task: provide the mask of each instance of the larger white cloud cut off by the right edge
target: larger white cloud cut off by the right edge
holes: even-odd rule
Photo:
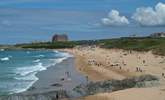
[[[163,26],[165,25],[165,4],[158,3],[155,8],[137,8],[132,18],[142,26]]]

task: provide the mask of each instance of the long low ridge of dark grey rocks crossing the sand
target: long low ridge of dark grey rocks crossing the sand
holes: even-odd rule
[[[158,83],[158,78],[151,75],[133,77],[124,80],[109,80],[104,82],[90,82],[87,85],[81,84],[74,88],[74,91],[82,96],[93,95],[96,93],[113,92],[134,87],[153,86]]]

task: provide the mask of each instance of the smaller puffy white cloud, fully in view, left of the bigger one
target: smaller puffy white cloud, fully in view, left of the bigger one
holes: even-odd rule
[[[112,10],[107,18],[102,19],[102,23],[109,26],[124,26],[128,25],[129,21],[125,16],[120,16],[117,10]]]

